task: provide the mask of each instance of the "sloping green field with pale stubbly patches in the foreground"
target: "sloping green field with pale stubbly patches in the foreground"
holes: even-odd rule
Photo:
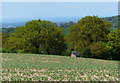
[[[39,54],[2,54],[3,81],[118,81],[118,61]]]

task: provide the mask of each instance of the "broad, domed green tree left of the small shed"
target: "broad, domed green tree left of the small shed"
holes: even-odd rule
[[[61,28],[50,21],[32,20],[10,34],[4,48],[29,53],[61,54],[65,49]]]

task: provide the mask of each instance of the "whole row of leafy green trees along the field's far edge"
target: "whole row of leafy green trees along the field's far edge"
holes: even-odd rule
[[[97,16],[70,24],[65,35],[53,22],[29,21],[7,36],[2,33],[2,52],[69,56],[78,51],[79,57],[120,60],[120,28],[111,30],[112,24]]]

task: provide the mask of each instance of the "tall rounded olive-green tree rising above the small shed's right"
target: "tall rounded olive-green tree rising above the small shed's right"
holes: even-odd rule
[[[94,42],[105,42],[111,26],[111,23],[96,16],[82,18],[70,28],[67,38],[69,49],[73,48],[81,53]]]

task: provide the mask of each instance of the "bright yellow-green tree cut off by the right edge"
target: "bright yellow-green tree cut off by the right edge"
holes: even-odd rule
[[[108,34],[109,58],[120,60],[120,28]]]

